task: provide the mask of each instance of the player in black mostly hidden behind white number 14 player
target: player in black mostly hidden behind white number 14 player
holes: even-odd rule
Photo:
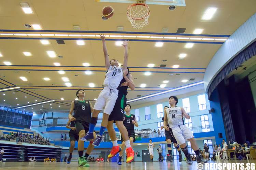
[[[169,108],[169,107],[168,106],[163,107],[164,110],[167,109],[167,108]],[[165,117],[162,117],[163,121],[164,121],[164,118]],[[167,126],[169,126],[169,124],[167,124]],[[161,129],[162,128],[163,128],[163,126],[161,126]],[[179,152],[179,162],[182,162],[182,154],[181,154],[180,146],[177,144],[177,141],[174,138],[174,136],[172,136],[170,130],[169,131],[165,130],[165,141],[167,142],[168,153],[169,153],[169,155],[171,157],[170,162],[172,162],[172,142],[173,142],[174,147]]]

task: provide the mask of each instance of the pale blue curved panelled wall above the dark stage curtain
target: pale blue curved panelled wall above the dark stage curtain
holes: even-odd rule
[[[245,21],[219,48],[204,73],[204,89],[208,88],[219,71],[240,51],[256,39],[256,13]]]

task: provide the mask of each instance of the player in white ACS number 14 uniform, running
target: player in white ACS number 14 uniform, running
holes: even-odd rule
[[[186,113],[184,108],[177,107],[178,98],[176,96],[169,97],[169,104],[171,107],[165,109],[165,118],[163,121],[164,128],[171,132],[171,134],[175,137],[177,143],[180,145],[181,150],[187,158],[187,164],[192,164],[190,154],[188,153],[186,140],[190,141],[191,148],[195,151],[197,157],[196,160],[198,163],[206,163],[207,161],[202,160],[199,148],[197,146],[194,135],[187,128],[186,125],[183,124],[183,117],[186,119],[190,119],[190,116]],[[169,124],[170,128],[167,126]]]

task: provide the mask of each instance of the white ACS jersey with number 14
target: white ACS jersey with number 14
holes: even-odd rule
[[[170,128],[183,124],[181,107],[169,107],[166,109],[166,114]]]

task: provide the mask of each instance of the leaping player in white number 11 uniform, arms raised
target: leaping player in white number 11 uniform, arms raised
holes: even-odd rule
[[[100,95],[94,105],[93,115],[90,121],[90,127],[88,133],[81,138],[81,140],[91,140],[93,139],[93,130],[97,123],[97,118],[100,111],[103,111],[103,117],[100,127],[100,132],[96,137],[96,140],[93,142],[94,146],[99,146],[102,141],[102,135],[108,125],[109,115],[113,111],[114,105],[116,103],[116,99],[118,97],[117,87],[119,86],[121,80],[123,79],[123,73],[127,72],[127,60],[128,60],[128,41],[123,42],[123,46],[125,47],[124,53],[124,63],[123,67],[119,67],[119,63],[117,60],[109,60],[108,50],[106,48],[105,36],[103,34],[100,35],[103,44],[103,52],[105,58],[105,66],[106,66],[106,74],[104,80],[104,88],[100,92]],[[126,74],[127,74],[126,73]],[[130,145],[128,146],[130,147]]]

